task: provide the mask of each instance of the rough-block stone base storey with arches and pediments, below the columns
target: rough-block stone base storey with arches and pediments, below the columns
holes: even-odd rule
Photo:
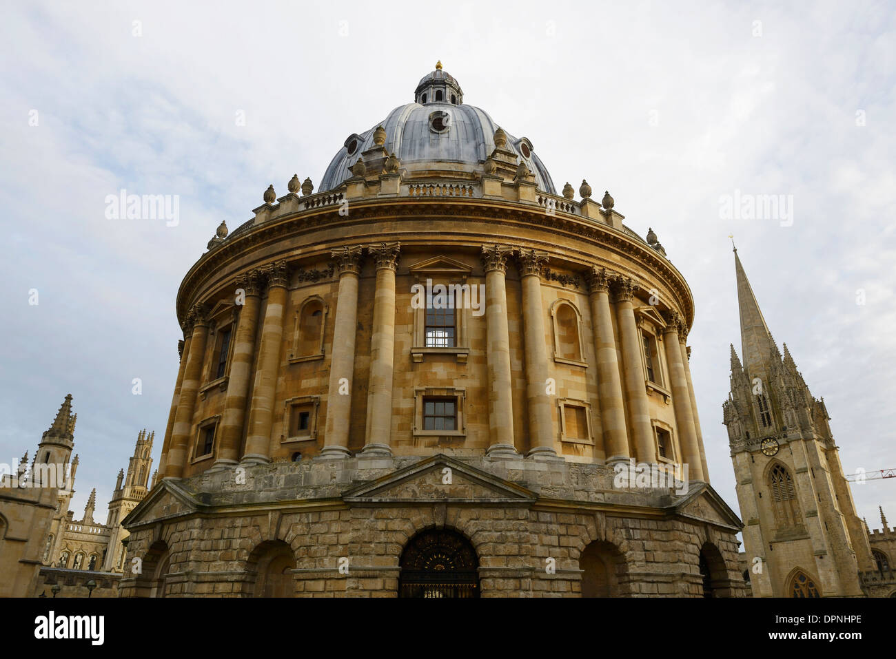
[[[141,565],[125,572],[122,596],[264,595],[279,552],[292,578],[284,595],[394,597],[402,552],[426,529],[469,541],[481,596],[582,595],[590,546],[602,552],[607,595],[702,596],[701,551],[714,596],[744,593],[740,522],[709,485],[616,489],[607,466],[444,455],[280,462],[166,479],[125,527],[126,566]]]

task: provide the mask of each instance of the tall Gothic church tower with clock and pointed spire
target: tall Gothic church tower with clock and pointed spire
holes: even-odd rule
[[[861,596],[871,550],[823,399],[771,337],[735,249],[743,364],[723,404],[757,597]]]

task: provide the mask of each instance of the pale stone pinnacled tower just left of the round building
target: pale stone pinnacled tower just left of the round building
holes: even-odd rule
[[[103,569],[111,572],[121,569],[124,558],[125,546],[122,544],[128,533],[121,526],[124,519],[134,509],[148,492],[147,482],[152,468],[152,440],[155,432],[146,432],[143,429],[137,433],[137,443],[134,445],[134,455],[127,465],[127,474],[122,469],[118,472],[115,492],[112,493],[112,501],[109,501],[109,515],[106,526],[112,529],[109,538],[106,560],[103,561]]]

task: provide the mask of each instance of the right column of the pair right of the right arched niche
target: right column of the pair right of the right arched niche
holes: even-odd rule
[[[641,357],[643,344],[638,325],[634,321],[633,297],[634,282],[629,278],[619,278],[616,282],[616,320],[622,344],[625,393],[632,423],[635,458],[639,462],[655,463],[657,449],[653,441],[653,426],[650,424],[650,405]]]

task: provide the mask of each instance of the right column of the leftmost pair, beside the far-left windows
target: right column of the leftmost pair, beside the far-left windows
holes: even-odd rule
[[[171,430],[171,447],[168,449],[168,463],[165,478],[180,478],[184,475],[186,458],[189,453],[190,438],[193,436],[193,413],[196,408],[196,394],[202,378],[202,361],[205,358],[205,341],[209,336],[205,307],[195,304],[187,314],[187,324],[193,327],[190,352],[186,355],[184,380],[180,385],[177,414]]]

